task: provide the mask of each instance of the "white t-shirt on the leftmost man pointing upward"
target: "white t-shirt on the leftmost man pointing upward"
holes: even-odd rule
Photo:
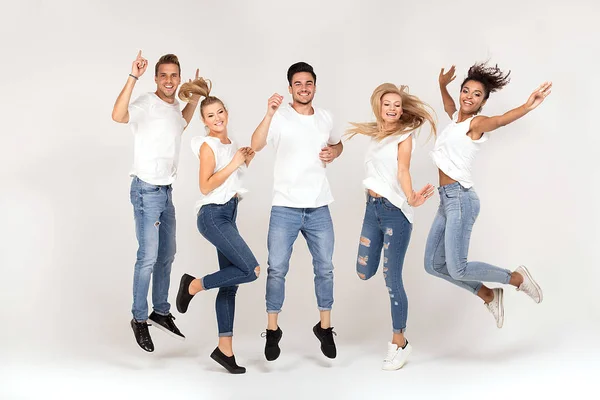
[[[129,105],[133,132],[133,167],[130,175],[153,185],[170,185],[177,176],[181,134],[187,122],[179,109],[145,93]]]

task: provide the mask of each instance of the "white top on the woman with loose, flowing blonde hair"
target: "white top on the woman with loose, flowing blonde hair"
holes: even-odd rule
[[[406,216],[408,222],[413,222],[413,209],[406,202],[406,196],[398,182],[398,145],[408,139],[412,132],[390,136],[382,141],[371,138],[365,156],[365,173],[363,185],[375,193],[388,199]],[[412,151],[416,141],[413,140]]]

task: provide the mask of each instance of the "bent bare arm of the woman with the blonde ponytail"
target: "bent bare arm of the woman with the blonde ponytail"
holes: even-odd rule
[[[198,174],[198,183],[200,185],[200,192],[207,195],[221,186],[236,169],[246,162],[248,152],[248,147],[238,149],[229,164],[215,172],[215,154],[208,144],[203,143],[200,146],[199,154],[200,173]]]

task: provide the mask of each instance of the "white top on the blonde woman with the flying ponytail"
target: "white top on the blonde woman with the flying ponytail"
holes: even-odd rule
[[[215,170],[214,172],[220,171],[225,168],[233,159],[236,151],[238,150],[237,144],[230,138],[229,144],[221,143],[221,140],[212,136],[196,136],[192,138],[192,151],[200,160],[200,147],[206,143],[210,146],[213,154],[215,155]],[[246,169],[246,164],[242,164],[241,167],[235,170],[229,177],[221,184],[221,186],[213,189],[210,193],[203,195],[200,192],[200,200],[196,202],[196,214],[200,211],[200,208],[205,204],[225,204],[236,194],[243,194],[248,192],[242,188],[242,171]]]

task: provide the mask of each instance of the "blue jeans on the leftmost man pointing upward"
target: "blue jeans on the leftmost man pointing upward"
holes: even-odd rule
[[[152,306],[160,315],[171,309],[167,298],[171,265],[175,259],[175,207],[171,185],[157,186],[134,177],[129,196],[133,204],[137,259],[133,273],[133,306],[136,321],[148,319],[148,289],[152,277]]]

